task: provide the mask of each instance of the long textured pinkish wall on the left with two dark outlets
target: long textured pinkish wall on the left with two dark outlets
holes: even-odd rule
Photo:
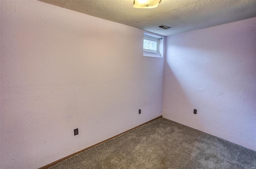
[[[142,30],[0,3],[1,169],[42,167],[162,115],[164,58],[143,56]]]

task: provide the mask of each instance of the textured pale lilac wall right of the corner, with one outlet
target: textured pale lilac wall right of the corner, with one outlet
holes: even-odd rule
[[[163,117],[256,150],[256,18],[168,36],[163,100]]]

